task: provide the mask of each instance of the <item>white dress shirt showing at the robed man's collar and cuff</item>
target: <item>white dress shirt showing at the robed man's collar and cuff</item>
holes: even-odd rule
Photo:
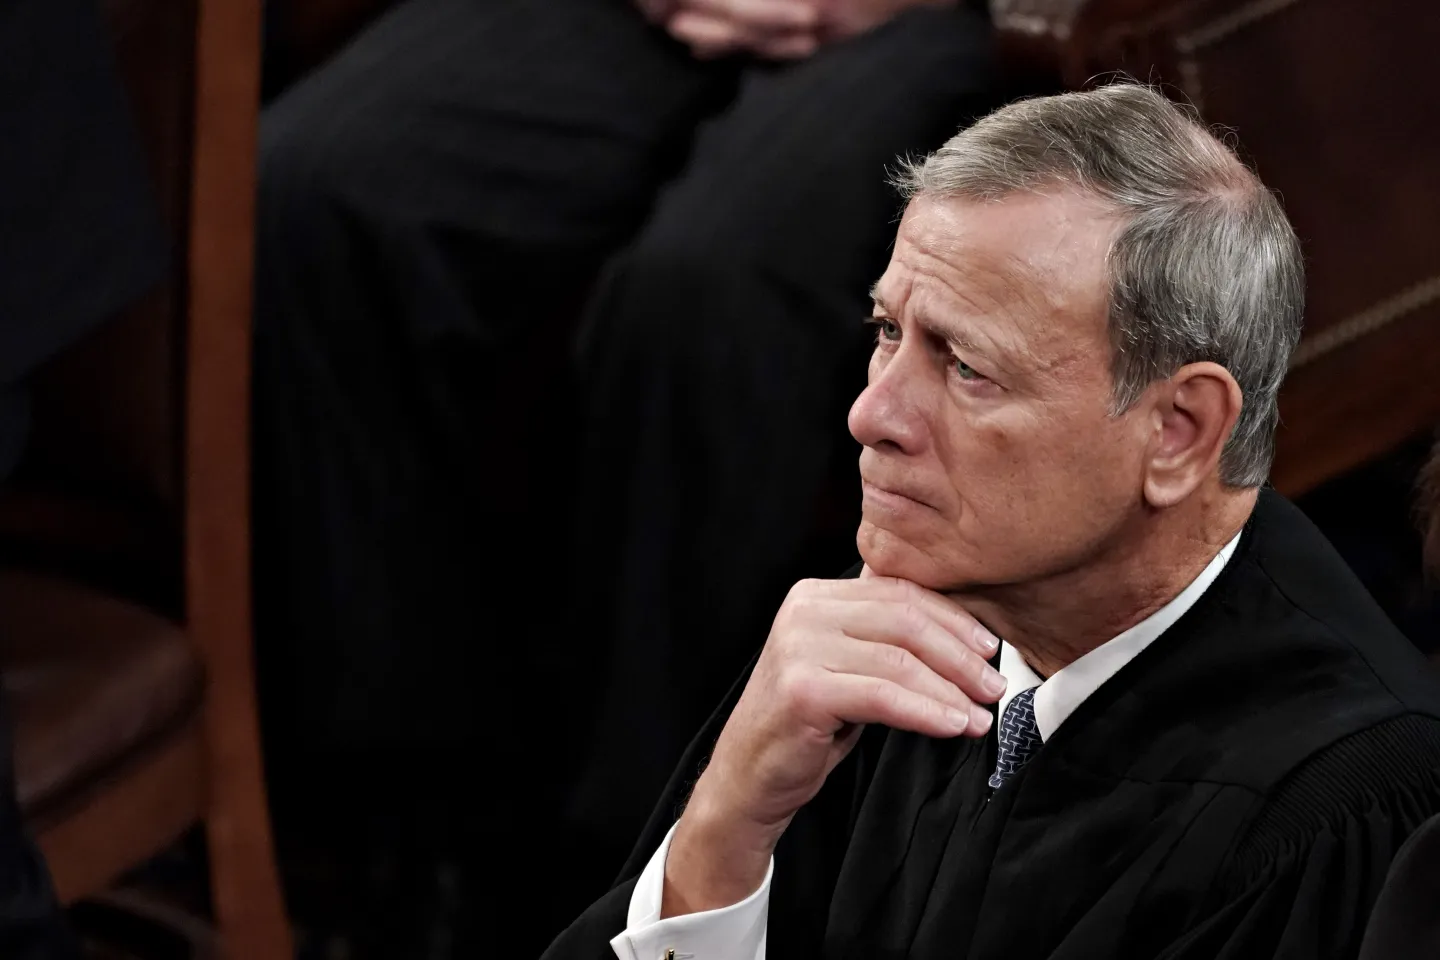
[[[1221,547],[1215,558],[1200,571],[1179,596],[1145,617],[1125,633],[1106,640],[1073,664],[1056,671],[1050,679],[1041,679],[1025,659],[1009,643],[1001,642],[999,672],[1007,681],[1005,695],[999,698],[998,714],[1005,715],[1005,707],[1015,694],[1038,687],[1035,691],[1035,727],[1040,740],[1050,740],[1060,724],[1074,712],[1086,697],[1100,689],[1104,681],[1115,676],[1122,666],[1135,659],[1140,651],[1175,625],[1187,610],[1195,606],[1220,571],[1225,569],[1236,553],[1240,534]],[[995,731],[991,730],[991,737]],[[635,891],[631,894],[629,914],[625,930],[611,940],[611,948],[619,960],[667,960],[674,951],[674,960],[765,960],[765,931],[770,908],[770,877],[775,874],[775,859],[765,872],[759,889],[737,904],[720,910],[707,910],[683,917],[660,918],[660,904],[665,888],[665,856],[675,828],[670,828],[665,841],[649,858]]]

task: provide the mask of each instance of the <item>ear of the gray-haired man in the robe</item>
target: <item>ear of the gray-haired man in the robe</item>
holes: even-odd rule
[[[1145,461],[1145,499],[1172,507],[1215,475],[1240,419],[1240,384],[1217,363],[1192,363],[1155,386],[1155,438]]]

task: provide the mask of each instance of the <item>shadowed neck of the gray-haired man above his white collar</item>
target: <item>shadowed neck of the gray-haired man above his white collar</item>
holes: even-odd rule
[[[1256,497],[1254,489],[1197,495],[1138,517],[1084,564],[956,599],[1050,676],[1179,596],[1240,533]]]

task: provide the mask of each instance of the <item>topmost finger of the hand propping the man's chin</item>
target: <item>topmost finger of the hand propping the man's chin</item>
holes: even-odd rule
[[[909,652],[972,701],[992,704],[1005,692],[1005,678],[999,671],[958,643],[955,635],[923,607],[893,602],[854,602],[847,606],[834,615],[834,623],[847,636]]]

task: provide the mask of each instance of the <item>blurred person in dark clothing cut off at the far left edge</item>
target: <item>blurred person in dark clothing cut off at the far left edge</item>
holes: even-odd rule
[[[0,478],[24,446],[24,379],[151,289],[164,243],[94,0],[0,4]],[[3,642],[3,638],[0,638]],[[22,826],[0,724],[0,957],[76,957]]]

